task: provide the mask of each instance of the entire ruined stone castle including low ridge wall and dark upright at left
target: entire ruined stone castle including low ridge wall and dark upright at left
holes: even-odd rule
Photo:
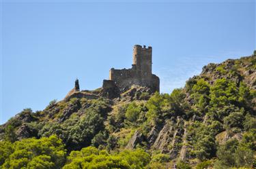
[[[111,69],[109,79],[103,80],[100,90],[80,90],[79,79],[76,79],[74,88],[68,92],[64,100],[70,98],[96,99],[119,98],[122,92],[129,90],[132,85],[147,87],[150,93],[159,92],[159,77],[152,74],[152,47],[134,45],[131,69]]]

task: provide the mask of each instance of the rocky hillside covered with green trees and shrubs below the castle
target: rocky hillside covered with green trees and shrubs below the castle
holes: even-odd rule
[[[152,93],[141,86],[124,92],[72,90],[43,111],[24,109],[0,127],[0,168],[15,168],[14,159],[29,168],[33,166],[29,161],[42,152],[49,156],[48,168],[97,168],[93,164],[102,162],[105,166],[98,168],[176,164],[177,168],[252,168],[256,166],[255,96],[256,52],[210,63],[171,94]],[[54,136],[63,147],[53,144]],[[26,157],[16,155],[18,145],[42,139],[66,152],[59,157],[61,162],[55,160],[53,150],[35,155],[26,149],[31,151]],[[10,150],[3,148],[7,145]],[[23,162],[24,158],[28,160]]]

